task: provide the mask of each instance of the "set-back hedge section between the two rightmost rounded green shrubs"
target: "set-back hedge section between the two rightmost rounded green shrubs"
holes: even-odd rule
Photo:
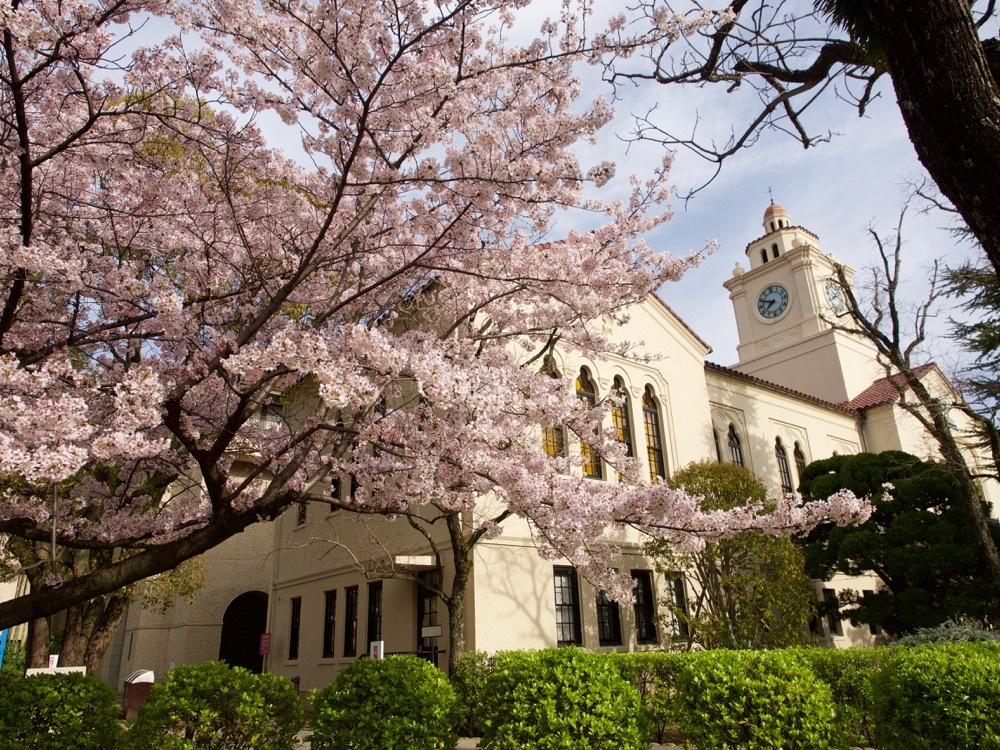
[[[802,648],[794,652],[830,688],[836,725],[851,747],[874,747],[874,678],[882,648]]]

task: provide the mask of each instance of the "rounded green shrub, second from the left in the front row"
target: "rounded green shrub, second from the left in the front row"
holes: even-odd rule
[[[128,742],[133,750],[290,750],[302,723],[289,680],[203,662],[153,686]]]

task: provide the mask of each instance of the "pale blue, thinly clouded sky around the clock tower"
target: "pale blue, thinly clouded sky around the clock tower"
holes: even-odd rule
[[[596,93],[598,85],[594,81],[588,90]],[[755,98],[747,94],[740,99],[721,87],[707,91],[646,84],[616,105],[616,120],[602,136],[596,153],[609,158],[609,152],[617,151],[620,185],[629,172],[642,174],[646,165],[659,158],[661,148],[632,144],[626,150],[617,136],[631,130],[632,113],[645,113],[655,103],[659,123],[686,132],[697,115],[706,134],[724,139],[751,115]],[[769,188],[792,223],[815,232],[820,249],[853,267],[860,279],[865,268],[878,262],[868,226],[874,225],[883,236],[891,235],[908,194],[907,184],[924,177],[888,80],[866,117],[860,118],[856,109],[828,95],[817,102],[806,122],[813,134],[836,134],[830,142],[810,149],[785,134],[765,134],[751,149],[731,157],[719,176],[689,201],[673,200],[674,218],[648,237],[654,248],[675,254],[701,248],[706,240],[719,243],[719,249],[701,266],[681,281],[667,284],[661,295],[712,346],[710,359],[720,364],[737,361],[738,343],[732,303],[722,282],[731,276],[737,261],[749,267],[744,249],[763,233]],[[671,182],[683,195],[703,184],[713,170],[714,165],[682,150],[677,153]],[[915,304],[923,299],[935,258],[957,263],[972,253],[943,230],[948,221],[940,212],[921,214],[916,205],[908,211],[903,232],[904,301]],[[957,362],[953,345],[943,335],[950,304],[947,300],[939,303],[932,326],[936,336],[923,354],[924,360],[934,359],[946,371]]]

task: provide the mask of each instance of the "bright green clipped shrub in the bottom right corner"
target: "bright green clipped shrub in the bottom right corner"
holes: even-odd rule
[[[886,649],[874,687],[882,750],[1000,748],[1000,644]]]

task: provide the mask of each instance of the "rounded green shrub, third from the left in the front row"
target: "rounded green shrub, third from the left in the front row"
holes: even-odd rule
[[[444,750],[460,712],[444,672],[416,656],[358,659],[312,694],[312,750]]]

